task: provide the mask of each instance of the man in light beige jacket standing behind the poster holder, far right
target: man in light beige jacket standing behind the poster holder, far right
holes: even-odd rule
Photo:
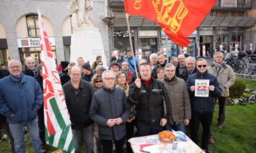
[[[218,97],[219,101],[219,117],[218,117],[218,127],[222,128],[225,121],[225,109],[227,97],[229,97],[229,87],[235,83],[235,73],[232,68],[223,61],[223,53],[216,52],[213,55],[213,64],[208,66],[208,72],[215,75],[218,78],[219,84],[221,84],[222,94]],[[217,99],[216,99],[217,100]],[[209,138],[210,143],[212,137]]]

